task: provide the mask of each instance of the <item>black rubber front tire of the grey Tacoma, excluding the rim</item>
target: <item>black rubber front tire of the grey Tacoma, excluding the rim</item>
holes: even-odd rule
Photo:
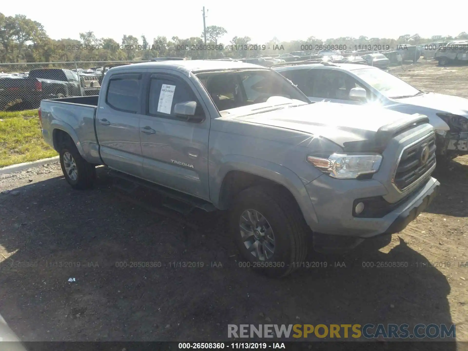
[[[246,210],[260,212],[268,227],[271,227],[274,237],[274,252],[271,257],[261,260],[244,244],[240,220]],[[299,205],[284,188],[257,185],[242,190],[234,199],[229,217],[231,233],[244,260],[239,263],[242,267],[251,267],[268,277],[280,278],[295,271],[306,258],[307,234],[311,231]]]

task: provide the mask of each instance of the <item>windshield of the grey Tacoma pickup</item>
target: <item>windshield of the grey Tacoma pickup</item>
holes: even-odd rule
[[[267,102],[269,106],[309,103],[307,97],[280,74],[267,70],[198,73],[219,111]],[[283,99],[270,99],[271,97]],[[254,106],[256,108],[256,106]]]

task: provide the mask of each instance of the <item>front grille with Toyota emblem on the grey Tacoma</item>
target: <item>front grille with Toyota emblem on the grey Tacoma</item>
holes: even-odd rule
[[[429,150],[427,161],[425,160],[426,155],[424,155],[425,146]],[[433,132],[406,146],[400,155],[395,176],[392,180],[395,187],[403,192],[427,176],[436,164],[435,151],[436,136]]]

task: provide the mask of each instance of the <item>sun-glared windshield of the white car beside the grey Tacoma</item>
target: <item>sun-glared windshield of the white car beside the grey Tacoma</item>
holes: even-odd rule
[[[352,72],[386,97],[414,96],[420,93],[418,89],[381,69],[364,68]]]

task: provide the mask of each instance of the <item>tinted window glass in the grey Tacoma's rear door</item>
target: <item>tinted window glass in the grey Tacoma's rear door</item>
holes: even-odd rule
[[[141,74],[117,74],[110,78],[106,103],[115,110],[138,113]]]

